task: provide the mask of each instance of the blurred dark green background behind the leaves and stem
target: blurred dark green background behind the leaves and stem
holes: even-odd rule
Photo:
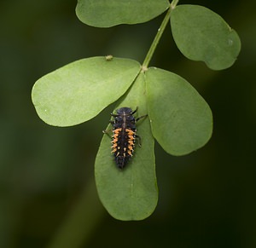
[[[51,127],[38,118],[31,89],[44,74],[85,57],[143,62],[163,15],[98,29],[77,19],[74,0],[0,2],[0,247],[46,247],[79,206],[84,213],[68,226],[69,247],[76,235],[84,238],[80,247],[256,247],[256,3],[180,3],[221,14],[241,37],[241,54],[230,69],[213,72],[184,58],[166,29],[151,65],[176,72],[203,95],[213,136],[183,157],[156,145],[159,205],[145,221],[119,222],[100,204],[93,181],[113,107],[85,124]]]

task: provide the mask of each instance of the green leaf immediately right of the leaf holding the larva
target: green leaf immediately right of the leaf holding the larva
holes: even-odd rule
[[[204,146],[212,135],[207,102],[183,78],[149,68],[146,72],[148,115],[153,136],[167,153],[184,155]]]

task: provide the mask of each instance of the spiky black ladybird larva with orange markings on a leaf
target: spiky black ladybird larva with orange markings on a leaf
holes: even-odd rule
[[[125,168],[125,165],[131,159],[137,138],[140,146],[140,136],[137,136],[136,123],[147,115],[135,118],[133,116],[135,112],[137,112],[137,109],[132,111],[130,107],[121,107],[116,110],[116,114],[111,113],[114,118],[110,121],[113,125],[111,153],[113,153],[115,163],[119,169]]]

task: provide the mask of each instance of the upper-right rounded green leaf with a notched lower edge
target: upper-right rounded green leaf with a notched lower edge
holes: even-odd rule
[[[212,70],[233,65],[240,39],[221,16],[202,6],[178,5],[171,14],[177,48],[193,61],[204,61]]]

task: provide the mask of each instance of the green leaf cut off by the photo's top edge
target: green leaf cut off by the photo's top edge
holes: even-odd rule
[[[76,14],[87,25],[109,27],[146,22],[169,5],[167,0],[79,0]]]

